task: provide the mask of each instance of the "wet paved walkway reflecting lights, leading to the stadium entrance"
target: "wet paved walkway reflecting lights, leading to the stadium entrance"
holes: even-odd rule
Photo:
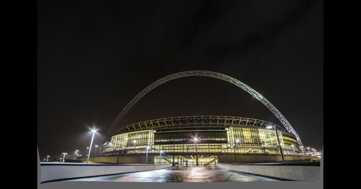
[[[219,167],[169,167],[161,170],[100,176],[70,181],[118,181],[118,182],[243,182],[277,181],[261,176],[228,171]]]

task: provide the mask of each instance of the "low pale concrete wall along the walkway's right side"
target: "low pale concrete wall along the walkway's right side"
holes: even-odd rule
[[[319,183],[318,166],[277,166],[277,165],[225,165],[217,163],[218,167],[247,172],[257,175],[277,177],[281,179],[290,179],[296,181],[305,181]]]

